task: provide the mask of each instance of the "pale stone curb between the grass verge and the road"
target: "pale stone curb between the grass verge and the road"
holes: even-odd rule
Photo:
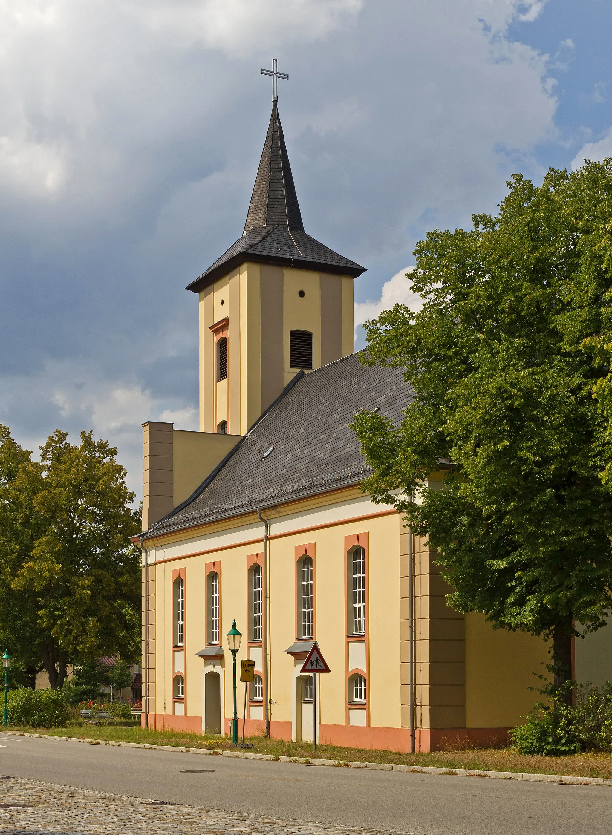
[[[344,760],[321,760],[309,757],[276,757],[273,754],[258,754],[250,751],[222,751],[215,748],[181,748],[173,745],[147,745],[146,742],[119,742],[105,739],[79,739],[76,736],[55,736],[46,733],[25,731],[4,731],[7,736],[34,736],[38,739],[58,739],[66,742],[81,742],[85,745],[109,745],[120,748],[145,748],[149,751],[174,751],[181,754],[200,754],[209,757],[237,757],[244,760],[268,760],[273,762],[294,762],[300,765],[367,768],[372,772],[408,772],[412,774],[439,774],[447,777],[492,777],[493,780],[521,780],[523,782],[564,783],[567,786],[612,786],[612,779],[606,777],[578,777],[570,774],[529,774],[526,772],[482,772],[471,768],[434,768],[431,766],[400,766],[386,762],[345,762]]]

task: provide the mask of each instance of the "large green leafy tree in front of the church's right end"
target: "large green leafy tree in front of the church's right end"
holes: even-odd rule
[[[515,175],[496,217],[428,234],[412,274],[422,310],[366,326],[364,362],[402,368],[413,400],[397,427],[353,423],[364,489],[438,549],[449,605],[552,640],[557,687],[572,636],[610,612],[612,456],[594,393],[609,379],[611,222],[607,159],[540,187]],[[428,480],[441,469],[442,490]]]

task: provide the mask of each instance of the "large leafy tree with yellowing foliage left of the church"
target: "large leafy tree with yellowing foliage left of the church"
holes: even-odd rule
[[[0,427],[0,640],[61,687],[71,657],[138,655],[139,532],[116,449],[59,430],[40,462]]]

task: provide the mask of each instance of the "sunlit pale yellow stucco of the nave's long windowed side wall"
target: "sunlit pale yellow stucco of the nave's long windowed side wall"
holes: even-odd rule
[[[372,510],[369,500],[362,497],[328,509],[312,509],[301,517],[279,517],[271,523],[271,720],[291,723],[293,706],[293,673],[296,662],[286,655],[287,647],[296,640],[295,603],[295,547],[316,544],[316,640],[331,667],[331,673],[321,676],[322,724],[346,723],[346,615],[344,602],[344,551],[345,536],[368,533],[369,539],[369,681],[370,724],[372,726],[399,727],[400,706],[400,642],[399,642],[399,520],[397,514],[374,519],[342,521],[346,514]],[[380,509],[377,507],[374,512]],[[327,521],[321,529],[305,533],[299,529],[310,521]],[[336,518],[337,524],[333,523]],[[330,524],[330,520],[332,524]],[[308,525],[310,527],[310,525]],[[291,533],[291,529],[298,529]],[[275,529],[287,535],[274,539]],[[262,534],[260,524],[236,529],[231,535],[255,539]],[[154,559],[171,559],[171,554],[181,550],[193,554],[185,559],[171,559],[156,563],[157,590],[157,710],[172,712],[172,571],[185,568],[185,680],[186,712],[189,716],[201,716],[202,671],[204,661],[195,655],[205,645],[205,564],[213,560],[221,563],[221,633],[225,649],[225,670],[230,671],[231,655],[226,648],[225,634],[235,618],[240,631],[247,631],[247,570],[246,557],[261,551],[259,544],[239,544],[237,547],[214,549],[215,538],[224,539],[230,534],[211,535],[210,539],[175,541],[166,547],[154,549]],[[150,555],[149,555],[150,556]],[[151,557],[153,559],[153,557]],[[243,638],[238,658],[246,658],[248,645]],[[301,664],[301,662],[300,662]],[[232,693],[230,679],[225,686],[225,716],[231,716]]]

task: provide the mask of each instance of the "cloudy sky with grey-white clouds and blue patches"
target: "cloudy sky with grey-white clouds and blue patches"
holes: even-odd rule
[[[93,429],[139,494],[140,423],[196,428],[184,287],[242,231],[271,58],[362,322],[514,171],[612,155],[611,28],[609,0],[2,0],[0,422],[31,449]]]

